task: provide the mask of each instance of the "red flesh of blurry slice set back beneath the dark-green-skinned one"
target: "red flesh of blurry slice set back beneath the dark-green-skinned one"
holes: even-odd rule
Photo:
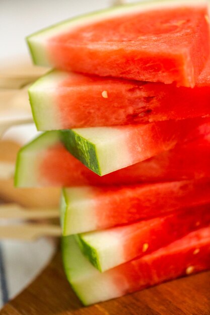
[[[209,140],[201,138],[182,146],[177,145],[174,149],[165,151],[149,160],[102,177],[86,168],[61,144],[56,144],[46,149],[40,156],[37,185],[122,185],[143,181],[209,178]]]

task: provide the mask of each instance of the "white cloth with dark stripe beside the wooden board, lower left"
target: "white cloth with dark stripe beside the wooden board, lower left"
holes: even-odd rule
[[[55,244],[46,238],[0,242],[0,308],[40,273],[54,252]]]

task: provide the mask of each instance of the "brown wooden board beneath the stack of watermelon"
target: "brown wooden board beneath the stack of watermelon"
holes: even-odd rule
[[[69,286],[60,252],[1,315],[209,315],[210,272],[83,307]]]

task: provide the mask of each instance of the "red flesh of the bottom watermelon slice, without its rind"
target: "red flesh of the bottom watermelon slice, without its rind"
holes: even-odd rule
[[[118,285],[124,283],[126,294],[209,268],[210,227],[206,227],[107,272]]]

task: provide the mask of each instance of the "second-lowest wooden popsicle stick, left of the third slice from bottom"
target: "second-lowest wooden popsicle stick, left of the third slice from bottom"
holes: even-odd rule
[[[0,219],[50,219],[58,218],[58,209],[26,209],[17,204],[0,205]]]

